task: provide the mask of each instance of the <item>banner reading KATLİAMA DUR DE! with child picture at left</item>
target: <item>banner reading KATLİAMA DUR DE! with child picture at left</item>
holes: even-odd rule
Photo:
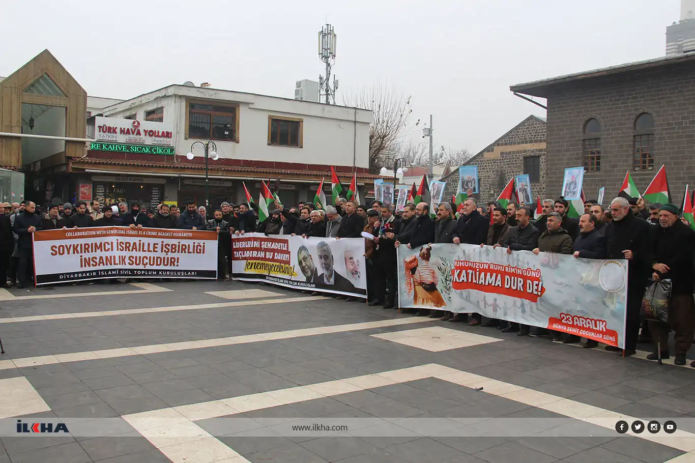
[[[399,307],[477,313],[625,345],[625,260],[480,245],[398,248]]]

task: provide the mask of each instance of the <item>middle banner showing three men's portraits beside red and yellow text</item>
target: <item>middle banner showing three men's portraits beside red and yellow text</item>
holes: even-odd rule
[[[247,233],[231,245],[235,279],[366,298],[364,238]]]

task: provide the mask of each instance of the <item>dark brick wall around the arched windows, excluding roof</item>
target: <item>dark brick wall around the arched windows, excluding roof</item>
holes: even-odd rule
[[[655,122],[654,170],[633,169],[635,117],[651,113]],[[680,204],[685,184],[695,185],[695,65],[683,64],[622,76],[565,84],[548,95],[548,194],[562,188],[564,168],[583,165],[584,122],[601,122],[601,169],[584,174],[584,194],[596,198],[606,187],[604,204],[615,197],[630,170],[644,193],[666,165],[673,201]]]

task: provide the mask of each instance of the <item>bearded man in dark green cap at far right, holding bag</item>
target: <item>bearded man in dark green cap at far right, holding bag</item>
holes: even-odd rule
[[[669,305],[669,323],[649,321],[649,331],[654,340],[654,352],[648,360],[659,358],[657,346],[661,348],[661,358],[669,358],[669,328],[676,332],[673,341],[676,359],[673,364],[685,365],[688,352],[695,334],[695,272],[693,270],[693,253],[695,252],[695,232],[678,220],[678,207],[664,204],[659,210],[659,225],[649,229],[652,279],[671,280],[671,304]],[[691,364],[695,366],[695,362]]]

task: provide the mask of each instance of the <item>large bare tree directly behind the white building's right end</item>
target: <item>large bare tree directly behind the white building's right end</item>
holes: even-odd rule
[[[372,111],[369,170],[378,174],[384,165],[384,160],[379,154],[394,152],[398,144],[411,132],[410,117],[413,110],[410,96],[406,96],[398,88],[377,82],[370,88],[359,88],[344,93],[343,104]]]

